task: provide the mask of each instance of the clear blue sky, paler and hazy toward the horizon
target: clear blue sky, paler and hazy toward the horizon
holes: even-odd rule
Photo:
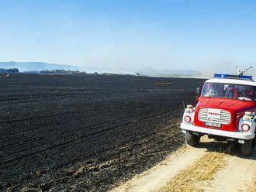
[[[0,0],[0,34],[0,61],[161,70],[247,67],[256,63],[256,2]]]

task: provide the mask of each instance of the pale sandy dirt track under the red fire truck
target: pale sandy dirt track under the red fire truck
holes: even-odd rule
[[[171,180],[178,180],[177,184],[180,184],[181,180],[177,178],[179,173],[186,173],[185,170],[188,170],[188,168],[191,169],[196,161],[201,160],[202,162],[206,154],[215,153],[215,151],[224,151],[225,149],[229,149],[231,155],[224,154],[223,157],[221,157],[223,158],[223,166],[213,174],[213,178],[209,177],[210,180],[203,180],[203,182],[202,180],[196,181],[195,178],[193,178],[192,172],[187,172],[190,173],[191,176],[186,176],[185,180],[188,180],[188,178],[189,180],[194,180],[197,182],[194,182],[195,186],[199,189],[188,191],[246,191],[256,170],[256,149],[254,149],[253,156],[244,157],[239,155],[239,149],[234,149],[225,142],[214,142],[212,139],[203,137],[197,148],[183,146],[181,149],[178,149],[177,152],[168,156],[163,162],[158,163],[157,166],[133,177],[132,180],[123,183],[122,186],[113,189],[111,192],[177,191],[170,188]],[[216,160],[218,161],[218,159]],[[209,162],[209,165],[212,166],[212,164],[213,162]],[[184,185],[184,183],[182,185]]]

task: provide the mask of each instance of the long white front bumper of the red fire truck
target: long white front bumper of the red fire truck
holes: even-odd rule
[[[182,122],[181,123],[181,129],[192,131],[192,132],[202,132],[205,134],[210,135],[220,135],[228,138],[234,138],[234,139],[254,139],[255,133],[254,132],[229,132],[224,131],[220,129],[210,129],[205,127],[199,127],[192,124],[187,124]]]

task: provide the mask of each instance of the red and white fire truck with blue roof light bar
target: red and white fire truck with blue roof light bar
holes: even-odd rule
[[[196,91],[197,105],[187,105],[180,128],[185,141],[196,146],[202,135],[241,144],[251,156],[256,120],[256,81],[251,76],[215,74]]]

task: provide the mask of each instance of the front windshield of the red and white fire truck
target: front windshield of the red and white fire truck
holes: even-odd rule
[[[201,96],[256,101],[256,87],[243,84],[206,83],[202,88]]]

